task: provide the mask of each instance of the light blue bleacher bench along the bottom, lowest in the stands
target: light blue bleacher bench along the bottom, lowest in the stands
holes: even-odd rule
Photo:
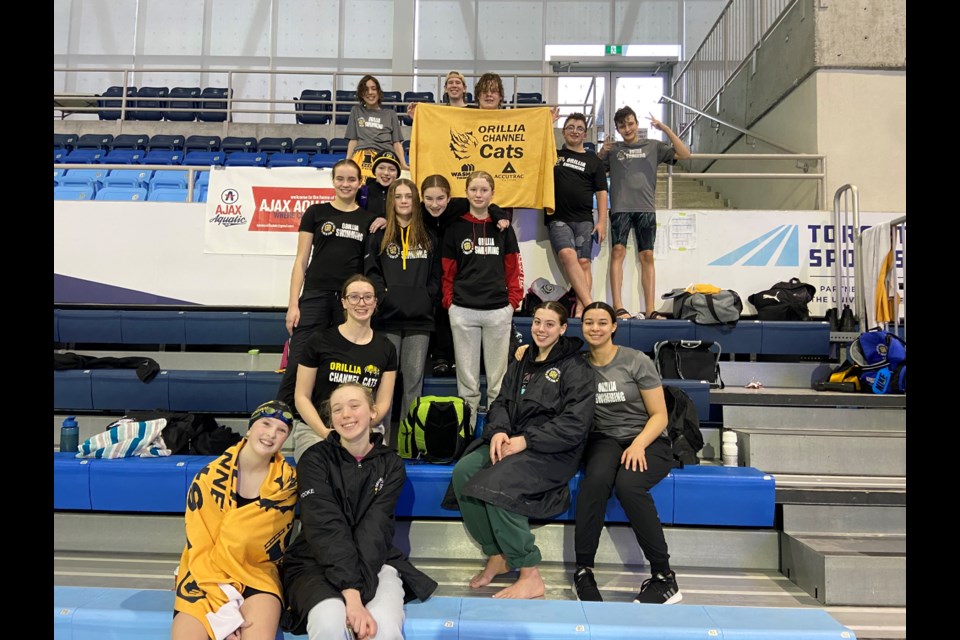
[[[55,640],[167,640],[173,591],[107,587],[53,588]],[[405,638],[434,640],[855,640],[822,609],[681,605],[576,600],[495,600],[434,596],[404,605]],[[294,636],[278,631],[277,638]]]

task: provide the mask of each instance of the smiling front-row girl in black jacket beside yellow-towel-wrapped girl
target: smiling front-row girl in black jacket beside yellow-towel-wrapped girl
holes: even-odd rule
[[[399,640],[405,592],[426,600],[437,588],[393,543],[406,468],[371,431],[369,388],[342,384],[328,406],[334,432],[297,466],[302,528],[283,565],[284,628],[310,640]]]

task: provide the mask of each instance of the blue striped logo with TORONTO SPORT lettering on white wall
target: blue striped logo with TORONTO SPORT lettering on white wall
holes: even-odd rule
[[[869,229],[871,225],[862,225],[861,233]],[[898,243],[902,245],[902,235],[905,232],[904,226],[896,227],[900,236]],[[846,247],[842,249],[842,255],[839,257],[840,263],[844,267],[852,267],[854,264],[853,247],[853,225],[841,227],[841,236],[843,244]],[[733,251],[720,256],[710,266],[715,267],[799,267],[801,254],[804,266],[831,268],[837,263],[836,250],[836,227],[832,224],[810,224],[801,228],[800,225],[788,224],[779,225],[772,230],[763,233],[752,240],[745,242]],[[806,240],[807,248],[801,251],[800,240]],[[894,251],[896,266],[903,266],[903,251],[896,249]]]

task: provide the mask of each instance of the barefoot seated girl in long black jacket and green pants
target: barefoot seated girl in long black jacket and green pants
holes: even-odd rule
[[[471,581],[479,589],[511,570],[520,575],[494,598],[544,594],[540,549],[530,518],[570,508],[568,483],[593,421],[594,385],[579,338],[567,338],[567,312],[539,305],[531,335],[535,348],[510,363],[481,436],[453,468],[444,508],[459,506],[463,524],[487,556]],[[451,495],[451,493],[453,495]]]

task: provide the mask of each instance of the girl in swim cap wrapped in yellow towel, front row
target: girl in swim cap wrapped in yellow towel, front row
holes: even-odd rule
[[[246,437],[193,479],[177,568],[173,640],[272,640],[282,611],[277,568],[293,530],[296,474],[280,448],[290,407],[271,400]]]

